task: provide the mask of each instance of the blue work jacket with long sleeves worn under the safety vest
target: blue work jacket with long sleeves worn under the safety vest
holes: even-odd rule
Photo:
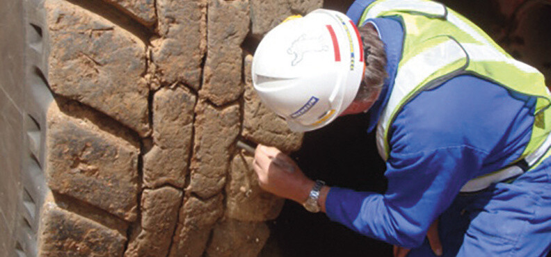
[[[349,9],[354,22],[373,0]],[[389,78],[369,110],[373,130],[390,97],[404,30],[397,19],[372,22],[385,43]],[[385,194],[331,188],[330,219],[378,240],[404,247],[422,244],[430,224],[470,179],[513,163],[532,132],[536,99],[471,75],[449,79],[404,106],[391,126]],[[369,172],[369,171],[366,171]]]

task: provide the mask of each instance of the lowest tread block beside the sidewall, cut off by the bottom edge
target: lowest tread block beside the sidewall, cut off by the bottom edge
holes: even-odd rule
[[[83,206],[70,206],[70,201],[58,206],[49,197],[40,216],[38,256],[122,256],[125,251],[125,224],[115,228],[109,215],[98,215]],[[65,208],[61,208],[65,206]],[[88,217],[75,213],[88,215]],[[90,214],[91,213],[91,214]],[[92,217],[92,219],[90,219]]]

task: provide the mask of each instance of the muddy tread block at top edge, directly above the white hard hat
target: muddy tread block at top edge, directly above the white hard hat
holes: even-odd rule
[[[321,8],[323,0],[250,0],[250,20],[253,37],[261,39],[264,34],[278,26],[291,15],[306,15]]]

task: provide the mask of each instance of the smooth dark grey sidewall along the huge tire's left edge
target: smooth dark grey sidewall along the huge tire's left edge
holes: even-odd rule
[[[36,256],[48,89],[45,13],[37,1],[0,1],[0,256]]]

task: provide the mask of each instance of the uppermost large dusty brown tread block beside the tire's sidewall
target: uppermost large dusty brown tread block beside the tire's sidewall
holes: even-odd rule
[[[149,135],[145,44],[109,20],[67,1],[47,0],[49,84]]]

